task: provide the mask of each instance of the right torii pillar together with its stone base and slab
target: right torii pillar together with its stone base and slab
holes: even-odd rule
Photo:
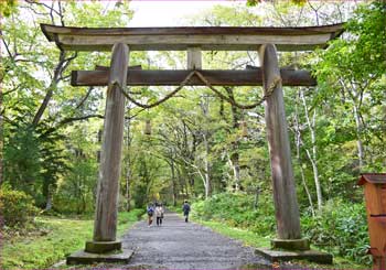
[[[277,238],[271,249],[256,251],[275,260],[308,259],[332,263],[332,256],[310,250],[308,239],[301,237],[300,214],[296,193],[291,151],[288,137],[285,99],[276,46],[264,44],[259,48],[262,86],[266,99],[266,128],[271,165]]]

